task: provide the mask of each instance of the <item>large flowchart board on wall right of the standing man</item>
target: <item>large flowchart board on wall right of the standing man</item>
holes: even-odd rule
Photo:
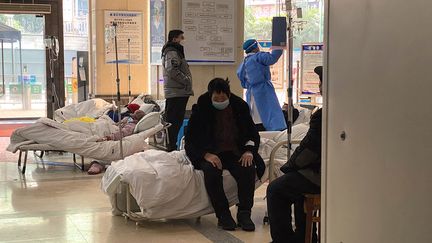
[[[235,11],[233,0],[183,0],[182,30],[190,64],[235,63]]]

